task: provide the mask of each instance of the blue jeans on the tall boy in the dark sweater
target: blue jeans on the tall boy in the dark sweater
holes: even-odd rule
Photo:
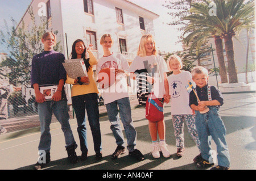
[[[61,124],[61,129],[64,133],[66,148],[70,145],[76,145],[73,133],[69,124],[69,114],[67,100],[60,100],[58,102],[47,101],[38,103],[38,114],[41,127],[41,137],[38,149],[48,152],[51,149],[51,133],[49,125],[52,120],[52,113]]]

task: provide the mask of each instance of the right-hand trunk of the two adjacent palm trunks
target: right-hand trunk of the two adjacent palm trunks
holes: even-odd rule
[[[224,44],[226,49],[226,58],[228,59],[229,83],[237,83],[238,78],[236,63],[234,62],[234,47],[232,35],[224,36]]]

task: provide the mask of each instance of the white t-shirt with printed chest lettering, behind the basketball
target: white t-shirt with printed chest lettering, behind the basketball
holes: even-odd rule
[[[101,57],[98,60],[96,70],[97,75],[99,71],[103,68],[114,68],[127,71],[129,68],[129,64],[122,54],[113,53],[108,57]],[[107,89],[103,90],[104,104],[108,104],[115,100],[129,97],[126,80],[126,75],[124,73],[117,74],[115,83]]]

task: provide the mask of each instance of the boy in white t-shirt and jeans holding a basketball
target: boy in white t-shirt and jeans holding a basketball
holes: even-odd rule
[[[112,130],[117,148],[112,154],[112,159],[118,158],[120,154],[125,153],[125,141],[122,133],[122,128],[119,120],[119,112],[123,127],[125,128],[125,133],[127,137],[127,149],[129,150],[129,155],[136,158],[138,161],[144,159],[141,151],[136,149],[136,135],[133,120],[131,118],[131,106],[130,99],[127,92],[127,81],[126,75],[129,68],[129,64],[126,61],[126,58],[122,54],[115,54],[112,52],[111,47],[113,45],[113,39],[111,35],[105,34],[101,37],[100,44],[104,50],[104,56],[98,60],[97,64],[97,74],[103,68],[114,68],[115,83],[104,89],[104,103],[108,112],[109,121],[111,123],[110,129]],[[111,76],[111,75],[110,75]],[[98,74],[98,77],[101,77]],[[105,79],[105,78],[104,78]]]

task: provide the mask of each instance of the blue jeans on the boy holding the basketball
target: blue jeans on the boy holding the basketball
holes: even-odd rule
[[[130,100],[129,98],[122,98],[106,104],[109,121],[111,123],[110,129],[114,134],[115,142],[119,146],[125,146],[125,140],[123,138],[123,132],[120,125],[117,105],[119,107],[123,128],[125,128],[127,149],[129,150],[129,152],[131,152],[135,149],[136,146],[137,132],[135,131],[135,128],[133,126],[133,120],[131,119]]]

